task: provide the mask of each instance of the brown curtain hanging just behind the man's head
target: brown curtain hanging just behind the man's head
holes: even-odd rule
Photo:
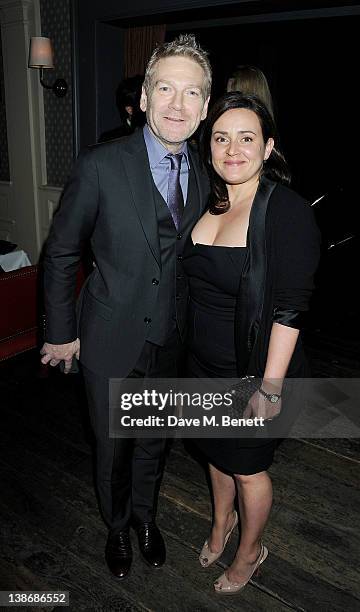
[[[165,40],[166,25],[128,28],[125,34],[125,78],[144,74],[151,53]]]

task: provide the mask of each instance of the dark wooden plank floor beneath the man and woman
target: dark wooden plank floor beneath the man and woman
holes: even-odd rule
[[[317,375],[359,376],[355,341],[313,334],[308,346]],[[174,443],[158,510],[167,563],[148,568],[133,537],[131,573],[118,582],[103,559],[79,376],[39,378],[37,363],[28,353],[0,368],[0,590],[67,590],[74,612],[360,610],[359,440],[283,442],[271,467],[269,557],[261,575],[228,598],[213,593],[212,582],[231,562],[237,536],[220,563],[200,567],[210,527],[206,477]]]

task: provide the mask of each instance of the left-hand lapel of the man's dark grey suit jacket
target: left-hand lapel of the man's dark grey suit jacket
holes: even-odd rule
[[[135,132],[129,138],[123,149],[122,160],[130,185],[133,204],[139,215],[149,247],[160,266],[159,232],[153,192],[154,183],[142,130]]]

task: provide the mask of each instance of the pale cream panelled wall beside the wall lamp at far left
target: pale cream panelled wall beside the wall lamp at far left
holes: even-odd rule
[[[41,35],[39,0],[0,0],[10,182],[0,182],[0,238],[36,263],[60,188],[46,186],[43,90],[27,67],[31,36]]]

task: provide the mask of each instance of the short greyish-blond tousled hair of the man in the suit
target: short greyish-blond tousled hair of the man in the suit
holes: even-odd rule
[[[211,66],[207,52],[196,42],[193,34],[180,34],[175,40],[162,43],[154,49],[145,70],[144,89],[146,95],[150,95],[152,92],[153,75],[158,61],[166,57],[176,56],[187,57],[201,66],[205,75],[203,96],[206,100],[211,91]]]

